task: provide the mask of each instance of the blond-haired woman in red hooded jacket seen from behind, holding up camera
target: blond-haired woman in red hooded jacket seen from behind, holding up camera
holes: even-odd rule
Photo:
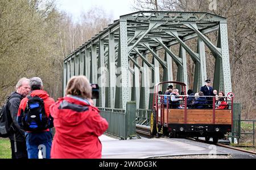
[[[98,136],[108,129],[108,122],[90,103],[89,81],[85,76],[74,76],[65,92],[67,96],[50,107],[55,126],[51,158],[100,159],[102,146]]]

